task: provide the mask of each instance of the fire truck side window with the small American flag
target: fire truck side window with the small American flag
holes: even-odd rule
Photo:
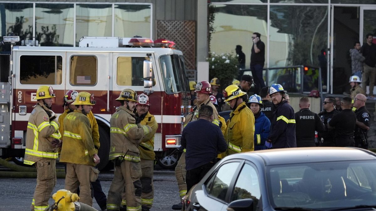
[[[97,83],[97,57],[72,56],[70,63],[70,83],[80,86],[95,85]]]

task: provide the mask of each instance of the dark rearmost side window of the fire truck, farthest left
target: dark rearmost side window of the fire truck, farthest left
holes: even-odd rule
[[[62,82],[61,56],[32,56],[20,57],[21,84],[50,84]]]

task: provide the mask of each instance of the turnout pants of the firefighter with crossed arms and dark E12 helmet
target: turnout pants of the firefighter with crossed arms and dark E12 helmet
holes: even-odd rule
[[[121,195],[124,192],[123,204],[129,211],[141,210],[141,164],[124,160],[120,166],[114,168],[114,179],[112,179],[107,197],[107,210],[120,210],[122,203]]]

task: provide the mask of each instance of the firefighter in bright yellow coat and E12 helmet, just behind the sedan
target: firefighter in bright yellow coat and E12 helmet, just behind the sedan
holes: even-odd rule
[[[246,102],[243,102],[244,95],[246,93],[236,85],[227,86],[223,90],[224,101],[228,102],[232,109],[224,133],[227,143],[227,151],[224,155],[249,152],[255,149],[255,117]]]

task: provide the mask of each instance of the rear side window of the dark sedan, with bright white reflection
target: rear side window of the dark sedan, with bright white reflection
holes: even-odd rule
[[[205,184],[206,191],[209,195],[224,200],[231,180],[239,166],[239,162],[225,163],[219,167]]]

